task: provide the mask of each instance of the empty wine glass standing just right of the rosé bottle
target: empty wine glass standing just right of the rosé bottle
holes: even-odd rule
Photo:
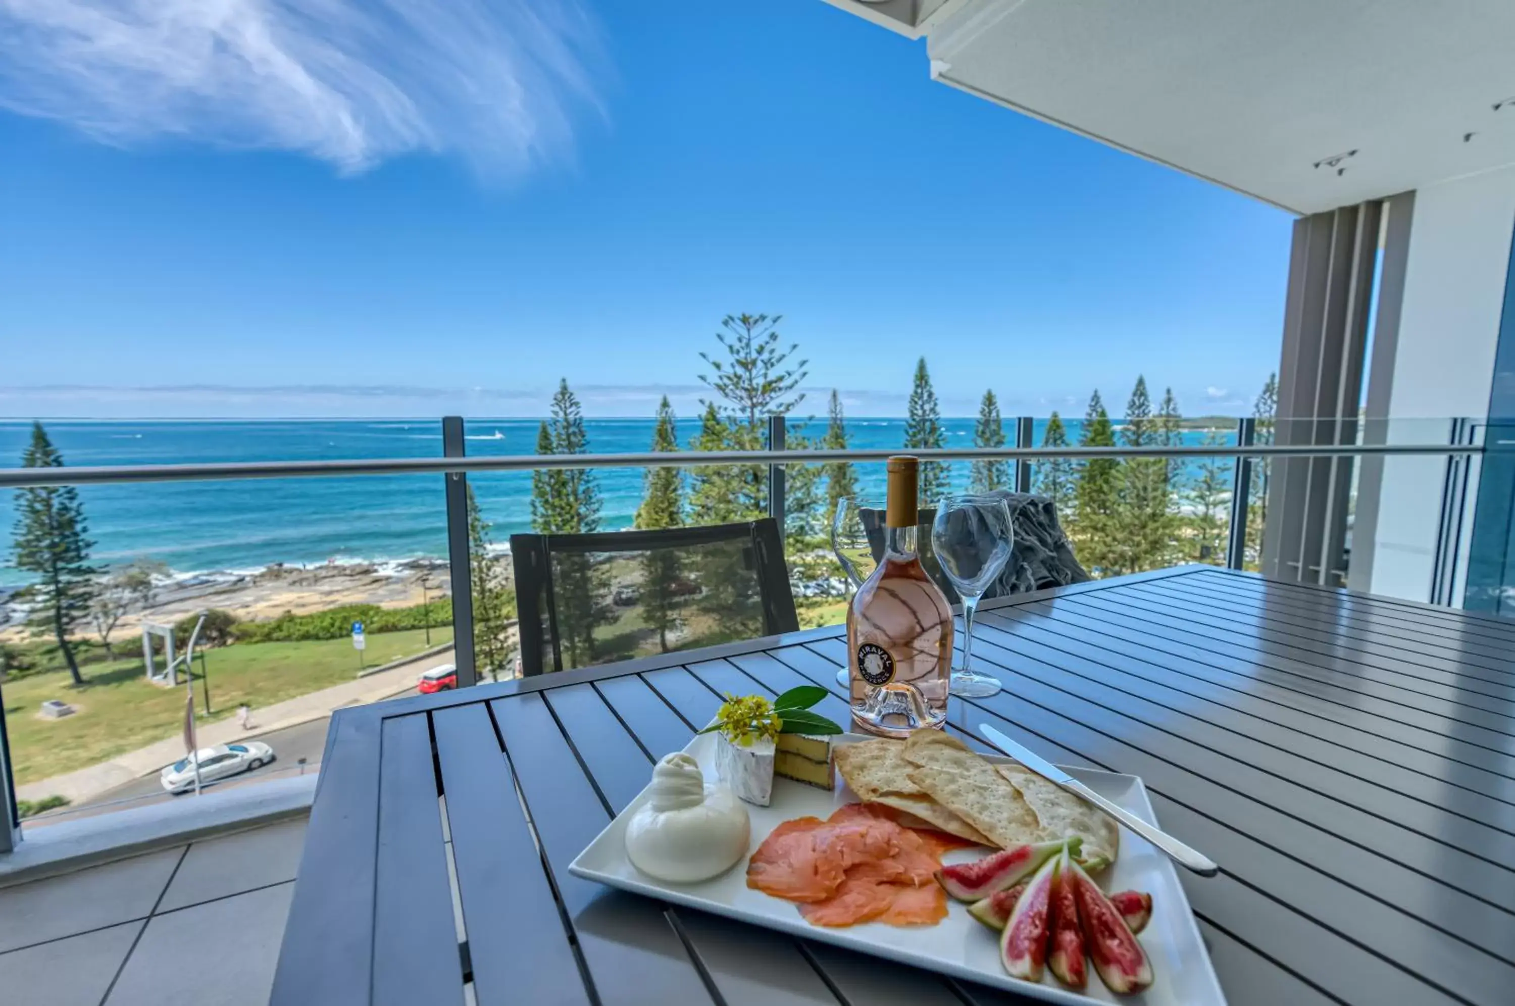
[[[979,598],[1004,570],[1015,544],[1009,505],[997,495],[953,495],[936,508],[932,548],[942,573],[962,595],[962,668],[951,673],[950,691],[982,698],[1000,691],[1000,679],[973,670],[973,614]]]

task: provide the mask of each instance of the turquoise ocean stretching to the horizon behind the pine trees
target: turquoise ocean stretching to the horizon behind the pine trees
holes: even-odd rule
[[[536,448],[539,420],[470,420],[470,455],[523,455]],[[950,445],[971,442],[974,420],[942,421]],[[229,461],[321,461],[344,458],[435,458],[442,453],[439,420],[197,420],[45,423],[68,465],[158,465]],[[586,420],[589,450],[644,451],[653,421]],[[791,421],[791,430],[795,429]],[[1068,423],[1070,441],[1079,423]],[[1041,444],[1045,420],[1036,421]],[[689,444],[698,420],[680,420],[679,441]],[[824,432],[824,421],[804,424]],[[1012,429],[1006,433],[1014,436]],[[847,423],[851,447],[891,448],[904,439],[904,420],[856,418]],[[21,464],[30,421],[0,420],[0,467]],[[1204,433],[1186,430],[1185,442]],[[1235,432],[1227,430],[1227,442]],[[965,488],[968,462],[951,467],[954,485]],[[865,494],[883,494],[883,462],[857,465]],[[606,530],[630,527],[641,501],[642,470],[601,468],[595,473],[604,500]],[[474,495],[494,541],[530,530],[530,473],[474,473]],[[15,521],[14,491],[0,491],[0,529]],[[342,479],[259,479],[241,482],[161,482],[80,486],[92,559],[115,565],[138,558],[168,564],[179,577],[247,573],[274,562],[321,564],[397,562],[445,556],[447,532],[442,476],[353,476]],[[5,533],[0,530],[0,533]],[[6,539],[0,588],[20,586],[27,574],[9,565]]]

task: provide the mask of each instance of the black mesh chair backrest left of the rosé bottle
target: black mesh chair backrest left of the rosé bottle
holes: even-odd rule
[[[773,518],[600,535],[511,535],[521,673],[795,632]]]

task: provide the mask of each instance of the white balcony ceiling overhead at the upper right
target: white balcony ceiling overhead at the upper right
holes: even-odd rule
[[[1515,0],[914,9],[938,80],[1297,212],[1515,164]]]

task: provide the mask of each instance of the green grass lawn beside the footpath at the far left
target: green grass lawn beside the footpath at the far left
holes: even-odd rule
[[[451,638],[450,626],[432,629],[432,645]],[[368,636],[364,664],[377,667],[424,648],[421,629],[374,633]],[[358,674],[358,651],[350,639],[241,642],[206,651],[205,662],[211,679],[209,720],[236,715],[236,706],[244,701],[256,718],[265,706],[350,682]],[[68,674],[59,671],[5,683],[6,730],[17,783],[85,768],[174,736],[182,729],[182,686],[148,685],[141,658],[94,664],[85,668],[85,680],[83,688],[71,688]],[[79,712],[62,720],[39,720],[36,711],[45,698],[61,698]],[[197,680],[195,714],[203,711],[201,682]]]

